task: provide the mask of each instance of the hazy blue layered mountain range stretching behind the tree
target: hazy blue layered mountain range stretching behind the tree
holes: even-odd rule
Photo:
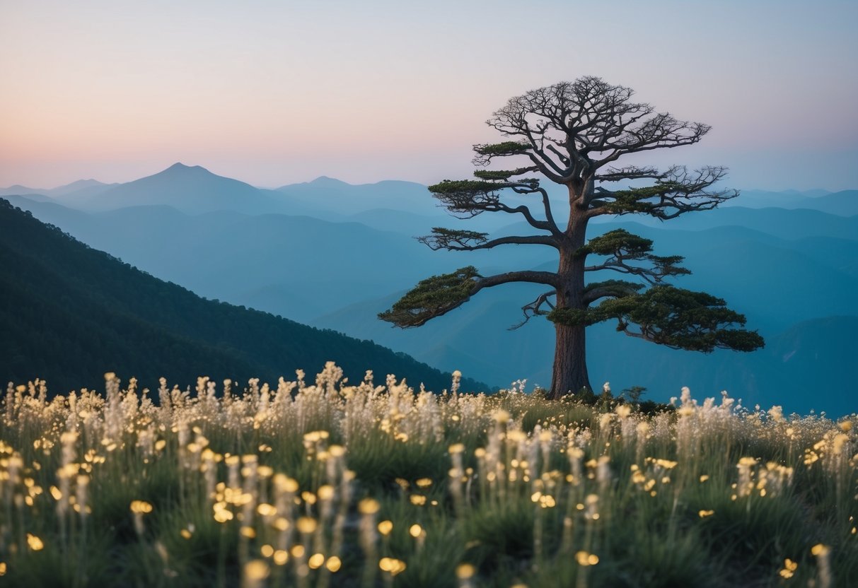
[[[180,164],[136,182],[90,189],[94,193],[84,187],[9,200],[203,296],[373,339],[491,386],[520,378],[545,386],[550,381],[551,324],[535,320],[506,330],[538,293],[527,285],[480,292],[419,329],[390,328],[376,318],[434,273],[464,265],[494,273],[556,264],[538,247],[432,252],[413,238],[432,226],[493,235],[529,230],[515,215],[454,219],[416,183],[353,186],[322,177],[267,190]],[[748,191],[728,205],[667,223],[635,215],[600,219],[589,237],[623,227],[653,239],[656,253],[685,255],[693,274],[677,285],[725,297],[746,314],[748,327],[764,334],[766,348],[700,355],[625,338],[607,325],[593,327],[594,385],[611,381],[615,391],[646,386],[657,400],[685,385],[701,396],[726,388],[746,405],[858,410],[858,368],[836,361],[849,353],[858,357],[847,334],[858,316],[858,191]]]

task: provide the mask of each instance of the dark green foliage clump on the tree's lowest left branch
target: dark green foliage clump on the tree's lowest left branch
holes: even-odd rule
[[[474,279],[479,277],[476,267],[468,266],[421,280],[378,318],[392,322],[396,327],[420,327],[467,302],[474,291]]]

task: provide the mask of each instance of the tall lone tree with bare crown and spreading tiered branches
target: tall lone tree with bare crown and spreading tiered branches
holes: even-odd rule
[[[480,213],[521,215],[536,234],[489,238],[487,233],[436,227],[431,235],[418,237],[420,242],[452,251],[542,245],[556,249],[556,272],[482,276],[475,267],[462,267],[421,281],[379,318],[397,327],[419,327],[485,288],[511,282],[544,285],[546,291],[523,306],[524,320],[518,326],[536,315],[553,321],[554,398],[582,388],[592,390],[584,333],[601,321],[615,320],[618,331],[674,349],[753,351],[763,346],[758,333],[738,328],[745,325],[745,317],[728,309],[721,298],[665,283],[669,277],[690,273],[680,266],[679,255],[654,255],[649,239],[622,229],[586,240],[589,220],[597,216],[634,213],[674,219],[710,210],[739,195],[736,190],[710,189],[724,177],[723,167],[690,171],[674,165],[659,171],[614,165],[633,153],[692,145],[710,130],[703,123],[656,113],[651,105],[633,102],[632,95],[631,88],[583,77],[516,96],[486,121],[507,140],[474,145],[474,165],[480,168],[474,171],[475,179],[444,180],[429,187],[460,218]],[[517,159],[520,165],[505,171],[487,169],[502,158]],[[543,179],[568,190],[565,227],[555,220]],[[513,194],[533,197],[539,212],[509,204]],[[565,202],[563,208],[565,212]],[[603,270],[625,273],[636,281],[585,281],[586,273]]]

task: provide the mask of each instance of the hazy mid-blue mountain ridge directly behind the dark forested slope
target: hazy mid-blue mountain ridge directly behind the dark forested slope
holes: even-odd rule
[[[202,296],[297,321],[402,290],[460,256],[353,222],[227,211],[191,215],[166,206],[82,213],[9,197],[95,249]]]

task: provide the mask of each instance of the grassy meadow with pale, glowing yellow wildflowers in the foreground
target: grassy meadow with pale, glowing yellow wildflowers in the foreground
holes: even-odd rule
[[[855,415],[457,376],[9,385],[0,585],[855,585]]]

